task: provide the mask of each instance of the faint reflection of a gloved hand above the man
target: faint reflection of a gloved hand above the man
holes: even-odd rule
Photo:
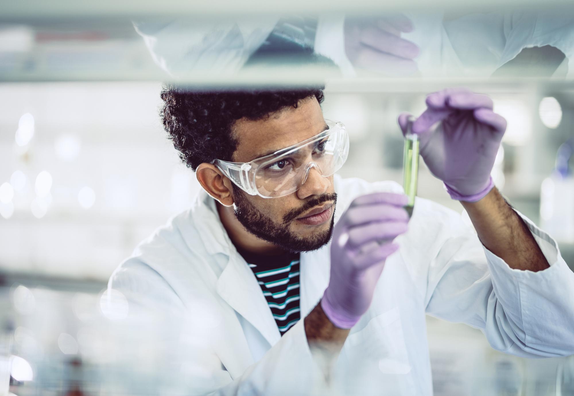
[[[412,31],[413,24],[404,14],[346,17],[345,52],[357,68],[391,76],[412,75],[418,70],[413,60],[418,55],[418,46],[401,38],[401,33]]]

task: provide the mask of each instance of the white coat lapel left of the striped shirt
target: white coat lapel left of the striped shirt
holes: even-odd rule
[[[229,262],[218,279],[217,292],[239,315],[261,332],[270,345],[280,340],[277,323],[253,271],[234,250],[231,251]]]

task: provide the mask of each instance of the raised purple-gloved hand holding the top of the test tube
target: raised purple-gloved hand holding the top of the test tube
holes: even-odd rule
[[[452,199],[482,199],[494,187],[490,172],[506,120],[492,111],[488,96],[464,88],[434,92],[426,97],[426,106],[412,125],[426,166],[444,182]],[[408,117],[408,113],[398,117],[403,134]]]

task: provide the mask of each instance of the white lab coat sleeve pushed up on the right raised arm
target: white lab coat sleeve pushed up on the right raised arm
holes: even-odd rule
[[[521,215],[519,213],[519,215]],[[493,348],[525,357],[574,354],[574,273],[556,242],[522,216],[550,267],[511,269],[453,219],[430,261],[426,312],[479,328]]]

